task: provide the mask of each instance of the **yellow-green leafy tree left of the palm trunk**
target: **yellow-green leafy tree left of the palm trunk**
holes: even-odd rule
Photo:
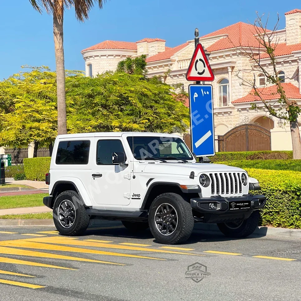
[[[48,67],[22,66],[27,71],[0,82],[0,145],[50,144],[57,135],[56,74]],[[51,148],[50,146],[50,148]]]

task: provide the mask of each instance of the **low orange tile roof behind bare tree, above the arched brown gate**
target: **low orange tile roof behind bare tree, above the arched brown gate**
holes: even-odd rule
[[[296,87],[295,85],[293,85],[291,83],[282,83],[281,86],[283,87],[287,98],[301,99],[301,94],[299,93],[299,88]],[[280,97],[280,94],[277,93],[277,85],[270,86],[270,87],[264,87],[264,88],[258,88],[258,91],[260,93],[260,96],[264,100],[275,100]],[[245,97],[233,100],[232,103],[250,103],[250,102],[260,100],[260,97],[255,96],[254,93],[255,93],[255,91],[254,91],[254,89],[252,89],[248,95],[246,95]]]

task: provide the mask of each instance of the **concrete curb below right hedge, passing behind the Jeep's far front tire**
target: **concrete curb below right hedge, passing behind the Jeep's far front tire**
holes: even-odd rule
[[[196,230],[205,231],[211,234],[221,234],[216,224],[198,223]],[[301,238],[301,229],[287,229],[287,228],[275,228],[275,227],[257,227],[252,237],[263,236],[278,236],[278,237],[294,237]]]

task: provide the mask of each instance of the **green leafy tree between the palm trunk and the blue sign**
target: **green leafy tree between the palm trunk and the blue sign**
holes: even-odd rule
[[[72,133],[91,131],[186,131],[189,109],[174,88],[157,78],[117,71],[66,81],[72,99],[67,126]]]

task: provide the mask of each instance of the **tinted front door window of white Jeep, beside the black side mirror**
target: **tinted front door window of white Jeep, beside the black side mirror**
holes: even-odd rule
[[[96,163],[98,165],[113,165],[112,152],[125,153],[120,140],[98,140]]]

